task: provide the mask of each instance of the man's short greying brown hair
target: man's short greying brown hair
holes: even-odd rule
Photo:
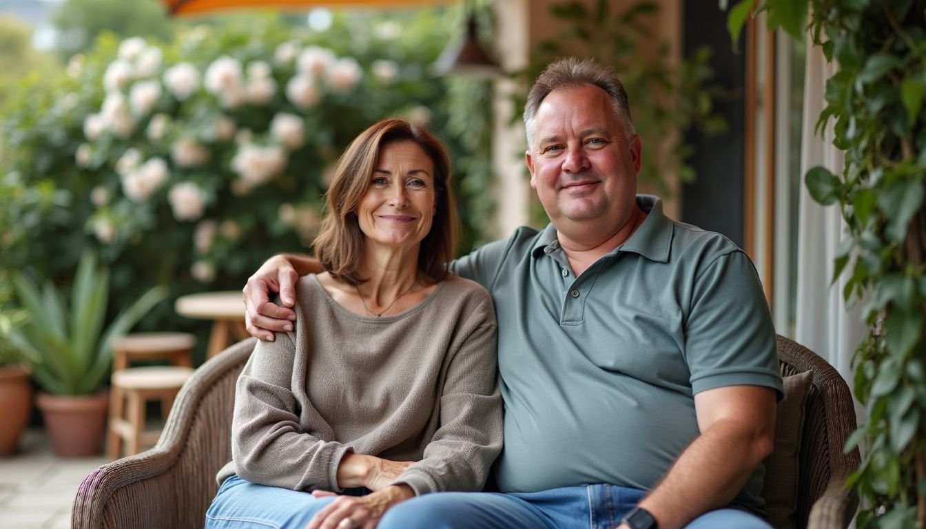
[[[629,139],[635,133],[627,92],[624,91],[624,85],[614,69],[601,65],[593,58],[566,57],[550,63],[533,83],[531,93],[527,96],[527,104],[524,105],[524,126],[527,129],[528,146],[532,142],[537,110],[546,96],[554,90],[575,88],[583,84],[591,84],[604,90],[611,98],[614,113],[618,116],[624,134]]]

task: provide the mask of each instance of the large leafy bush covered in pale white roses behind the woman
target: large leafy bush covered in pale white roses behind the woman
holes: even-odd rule
[[[24,85],[0,114],[0,268],[67,281],[94,246],[126,301],[157,283],[240,288],[273,253],[310,251],[334,162],[386,117],[428,120],[455,178],[488,182],[488,89],[430,74],[450,23],[388,24],[105,36],[59,80]]]

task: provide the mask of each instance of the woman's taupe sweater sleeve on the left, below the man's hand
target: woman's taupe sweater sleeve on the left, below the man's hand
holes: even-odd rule
[[[273,342],[258,342],[244,366],[235,388],[232,419],[234,470],[260,485],[340,492],[337,468],[350,448],[303,430],[300,411],[318,413],[300,410],[294,397],[294,355],[293,334],[277,333]]]

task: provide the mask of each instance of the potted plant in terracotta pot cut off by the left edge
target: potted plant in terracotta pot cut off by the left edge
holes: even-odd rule
[[[29,365],[10,342],[13,331],[29,320],[29,311],[13,307],[13,289],[0,271],[0,456],[16,451],[32,410]]]

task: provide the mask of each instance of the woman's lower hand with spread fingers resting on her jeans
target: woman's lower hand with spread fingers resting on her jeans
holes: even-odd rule
[[[405,484],[389,485],[367,496],[339,496],[319,510],[306,529],[374,529],[387,509],[413,496]]]

